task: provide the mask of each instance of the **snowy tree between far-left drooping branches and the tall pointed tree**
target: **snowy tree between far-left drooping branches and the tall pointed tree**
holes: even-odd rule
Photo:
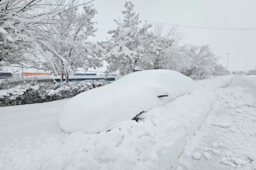
[[[73,70],[84,65],[87,68],[101,66],[101,46],[88,41],[88,37],[94,36],[97,31],[92,21],[96,13],[92,5],[86,5],[82,14],[78,12],[78,7],[74,7],[57,16],[59,22],[56,23],[57,34],[52,39],[52,47],[67,60]],[[68,81],[69,70],[63,67],[63,61],[57,57],[55,59]]]

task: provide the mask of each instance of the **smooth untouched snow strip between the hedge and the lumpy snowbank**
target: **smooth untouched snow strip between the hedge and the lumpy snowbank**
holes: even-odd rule
[[[0,155],[5,142],[61,131],[58,123],[60,109],[69,99],[30,105],[0,108]]]

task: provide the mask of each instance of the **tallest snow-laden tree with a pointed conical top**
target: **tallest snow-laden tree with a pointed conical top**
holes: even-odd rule
[[[117,29],[108,33],[112,34],[110,39],[111,48],[108,48],[106,61],[109,63],[110,72],[119,71],[122,75],[134,71],[144,53],[144,42],[147,39],[147,29],[151,25],[144,25],[139,29],[139,14],[134,11],[134,5],[131,2],[125,3],[125,10],[122,11],[123,20],[114,20],[117,23]]]

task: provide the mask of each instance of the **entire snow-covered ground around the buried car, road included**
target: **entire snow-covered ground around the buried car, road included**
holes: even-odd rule
[[[57,117],[67,100],[0,108],[0,142],[7,142],[3,150],[0,148],[0,169],[227,169],[243,161],[246,164],[241,169],[250,169],[245,148],[255,153],[256,78],[236,76],[228,86],[220,88],[231,78],[198,80],[190,95],[151,109],[142,114],[140,122],[123,121],[99,134],[60,130]],[[205,148],[213,151],[204,154]],[[219,162],[225,149],[234,156],[238,154],[236,158],[225,155],[228,165]],[[192,152],[198,152],[193,156],[200,159],[195,160]]]

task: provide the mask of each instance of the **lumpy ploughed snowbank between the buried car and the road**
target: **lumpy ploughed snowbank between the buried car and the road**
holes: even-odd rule
[[[6,145],[0,169],[170,169],[232,76],[199,80],[191,95],[98,134],[42,134]],[[97,125],[96,125],[97,126]]]

